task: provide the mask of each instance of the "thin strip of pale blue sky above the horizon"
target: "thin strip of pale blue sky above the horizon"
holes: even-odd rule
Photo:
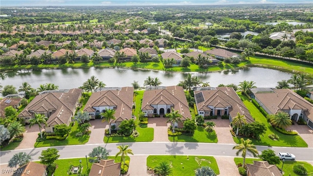
[[[260,4],[313,3],[313,0],[0,0],[0,6],[46,5],[202,5],[202,4]]]

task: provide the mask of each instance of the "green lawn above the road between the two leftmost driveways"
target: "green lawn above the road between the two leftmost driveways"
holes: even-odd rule
[[[49,139],[42,142],[36,142],[34,146],[37,148],[37,147],[86,144],[90,136],[85,134],[81,137],[76,137],[75,134],[77,132],[81,132],[81,130],[78,128],[78,123],[75,123],[65,140]]]

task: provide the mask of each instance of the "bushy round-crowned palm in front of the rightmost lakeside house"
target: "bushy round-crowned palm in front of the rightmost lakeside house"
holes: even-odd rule
[[[269,118],[269,122],[278,128],[287,128],[291,126],[292,121],[288,113],[279,111],[275,115],[271,115]]]

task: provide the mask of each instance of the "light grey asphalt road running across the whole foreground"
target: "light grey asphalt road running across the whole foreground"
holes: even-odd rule
[[[233,144],[216,144],[216,143],[184,143],[184,142],[136,142],[136,143],[112,143],[100,144],[105,147],[110,155],[118,152],[116,146],[127,144],[133,150],[134,155],[209,155],[209,156],[236,156],[237,150],[232,150]],[[72,145],[72,146],[56,146],[59,150],[60,159],[85,157],[97,144]],[[13,154],[26,152],[30,154],[32,160],[38,160],[41,151],[47,147],[34,149],[21,149],[13,151],[0,152],[0,164],[7,164]],[[267,147],[257,146],[257,150],[261,154],[263,150],[272,149],[276,154],[279,152],[289,152],[296,156],[296,160],[313,161],[313,148],[296,148],[296,147]],[[253,157],[247,152],[247,157]],[[240,156],[241,157],[241,156]]]

